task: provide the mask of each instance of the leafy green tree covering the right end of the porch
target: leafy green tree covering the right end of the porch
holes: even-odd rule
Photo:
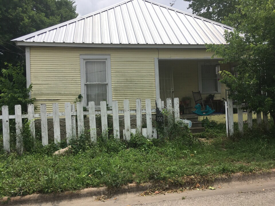
[[[225,31],[227,45],[207,45],[224,59],[221,63],[238,65],[237,76],[223,71],[221,82],[247,108],[270,112],[275,124],[275,0],[239,0],[237,12],[225,22],[235,26]]]

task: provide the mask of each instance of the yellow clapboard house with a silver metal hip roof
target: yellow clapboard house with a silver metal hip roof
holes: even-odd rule
[[[26,51],[27,80],[35,106],[74,102],[184,96],[225,97],[217,69],[230,64],[206,52],[225,44],[231,27],[148,0],[127,0],[83,17],[13,39]],[[144,103],[144,101],[143,101]],[[194,102],[192,102],[192,106]],[[60,110],[62,108],[60,107]],[[64,108],[64,107],[63,107]],[[39,107],[38,107],[39,112]]]

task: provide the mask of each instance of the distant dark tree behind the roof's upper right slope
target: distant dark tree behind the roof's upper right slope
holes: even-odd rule
[[[222,22],[229,14],[236,12],[238,0],[184,0],[189,2],[188,9],[192,9],[192,13],[213,21]],[[176,0],[170,5],[173,6]]]

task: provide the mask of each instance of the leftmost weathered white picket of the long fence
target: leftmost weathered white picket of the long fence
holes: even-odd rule
[[[6,152],[11,152],[9,144],[9,107],[2,106],[3,146]]]

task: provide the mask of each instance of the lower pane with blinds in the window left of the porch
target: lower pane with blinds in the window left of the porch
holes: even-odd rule
[[[86,84],[87,105],[95,102],[95,106],[100,106],[100,101],[107,101],[106,84]]]

